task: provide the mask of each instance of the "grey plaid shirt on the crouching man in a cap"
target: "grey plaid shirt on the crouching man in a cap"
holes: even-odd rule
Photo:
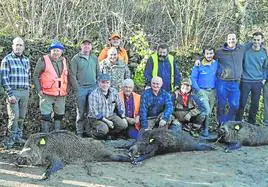
[[[121,117],[125,117],[125,107],[118,92],[110,88],[106,98],[101,89],[97,88],[91,92],[88,97],[89,113],[88,116],[101,120],[104,117],[110,117],[117,112]]]

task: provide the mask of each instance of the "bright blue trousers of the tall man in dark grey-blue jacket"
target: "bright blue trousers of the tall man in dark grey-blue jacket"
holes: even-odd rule
[[[224,123],[235,120],[239,108],[239,82],[217,80],[218,121]],[[229,106],[228,111],[226,107]]]

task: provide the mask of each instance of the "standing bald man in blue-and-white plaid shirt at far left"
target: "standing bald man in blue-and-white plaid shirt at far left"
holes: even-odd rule
[[[23,144],[23,122],[29,100],[30,61],[23,55],[24,41],[16,37],[12,53],[1,63],[2,84],[7,93],[8,139],[6,148]]]

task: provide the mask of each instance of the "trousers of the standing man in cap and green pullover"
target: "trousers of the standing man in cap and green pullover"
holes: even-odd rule
[[[76,95],[76,133],[83,134],[87,128],[88,96],[96,87],[80,87]]]

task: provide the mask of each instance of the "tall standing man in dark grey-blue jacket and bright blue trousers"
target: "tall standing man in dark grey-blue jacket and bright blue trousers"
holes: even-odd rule
[[[216,51],[219,61],[217,72],[218,121],[235,120],[239,108],[239,82],[243,71],[244,47],[237,45],[235,34],[228,34],[227,43]],[[226,106],[228,112],[226,113]]]

